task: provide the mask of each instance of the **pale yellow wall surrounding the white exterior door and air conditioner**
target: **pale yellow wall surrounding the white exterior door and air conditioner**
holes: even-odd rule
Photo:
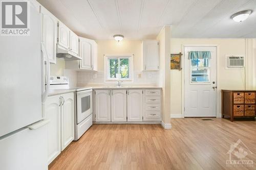
[[[221,89],[244,89],[245,77],[243,70],[225,69],[225,55],[245,56],[245,39],[170,39],[170,53],[182,52],[184,44],[213,44],[217,50],[217,114],[221,114]],[[183,53],[183,52],[182,52]],[[184,56],[183,56],[184,57]],[[181,116],[182,112],[182,71],[170,71],[170,114]]]

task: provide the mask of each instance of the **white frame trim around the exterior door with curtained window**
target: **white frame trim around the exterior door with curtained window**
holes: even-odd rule
[[[181,60],[181,64],[182,64],[182,68],[184,68],[185,66],[185,47],[202,47],[202,46],[206,46],[206,47],[216,47],[217,52],[216,52],[216,79],[217,79],[217,87],[218,87],[218,82],[219,82],[219,71],[218,71],[218,58],[219,58],[219,45],[218,44],[183,44],[182,45],[182,53],[183,53],[183,58]],[[183,60],[184,59],[184,60]],[[185,117],[185,71],[184,69],[181,69],[181,86],[182,86],[182,90],[181,90],[181,114],[182,114],[182,118]],[[219,115],[219,91],[217,88],[217,92],[216,92],[216,117],[219,118],[221,117],[221,115]]]

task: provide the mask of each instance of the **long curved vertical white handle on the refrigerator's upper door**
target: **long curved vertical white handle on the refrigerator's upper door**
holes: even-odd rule
[[[44,104],[46,102],[48,93],[49,93],[49,87],[50,87],[50,61],[49,57],[46,51],[46,47],[43,41],[41,41],[41,51],[42,51],[42,57],[44,58],[44,55],[46,55],[46,90],[44,93],[42,93],[42,103]],[[44,82],[44,81],[43,81]]]

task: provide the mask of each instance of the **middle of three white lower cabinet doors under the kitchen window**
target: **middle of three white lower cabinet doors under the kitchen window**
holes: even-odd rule
[[[111,91],[112,122],[126,122],[126,90]]]

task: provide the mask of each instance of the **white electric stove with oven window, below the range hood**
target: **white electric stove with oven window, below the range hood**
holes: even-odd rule
[[[72,89],[75,92],[75,139],[78,140],[93,124],[92,87],[69,87],[69,78],[51,76],[50,89]]]

